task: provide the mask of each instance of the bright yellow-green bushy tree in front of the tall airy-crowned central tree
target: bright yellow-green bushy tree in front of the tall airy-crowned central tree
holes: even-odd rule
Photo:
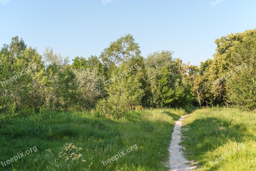
[[[112,74],[112,80],[106,86],[108,98],[100,101],[97,105],[98,109],[101,108],[101,112],[105,114],[122,117],[129,109],[140,105],[144,91],[141,89],[140,77],[138,76],[135,69],[132,70],[132,67],[126,63],[116,68]],[[102,105],[105,107],[102,108]]]

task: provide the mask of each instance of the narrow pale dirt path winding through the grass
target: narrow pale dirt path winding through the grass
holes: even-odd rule
[[[185,159],[182,155],[182,152],[180,151],[180,149],[182,148],[182,146],[179,145],[179,143],[181,142],[181,133],[180,133],[180,128],[182,126],[181,121],[184,120],[187,116],[188,115],[181,116],[180,120],[175,122],[174,130],[172,133],[172,141],[169,148],[169,152],[171,156],[169,158],[168,166],[171,167],[171,171],[191,171],[196,168],[195,166],[186,165],[188,163],[193,163],[193,162]]]

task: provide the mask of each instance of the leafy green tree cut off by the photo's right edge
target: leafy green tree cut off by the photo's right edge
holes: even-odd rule
[[[256,29],[244,32],[231,57],[235,72],[227,80],[227,102],[245,109],[256,109]]]

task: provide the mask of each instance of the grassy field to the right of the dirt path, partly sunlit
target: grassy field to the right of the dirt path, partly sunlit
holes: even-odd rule
[[[256,114],[230,108],[196,110],[183,123],[187,158],[200,171],[256,170]]]

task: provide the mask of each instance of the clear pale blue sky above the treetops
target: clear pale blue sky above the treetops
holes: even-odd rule
[[[40,54],[50,46],[72,60],[99,56],[130,33],[144,58],[168,50],[199,65],[213,58],[215,39],[256,28],[255,0],[104,1],[2,0],[0,46],[18,35]]]

